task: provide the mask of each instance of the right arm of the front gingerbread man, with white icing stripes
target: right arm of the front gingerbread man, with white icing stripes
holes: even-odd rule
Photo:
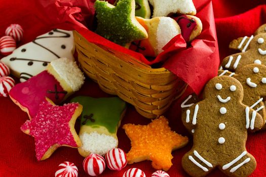
[[[264,122],[260,114],[258,114],[255,110],[250,107],[245,107],[245,115],[246,115],[246,128],[250,131],[259,130]]]

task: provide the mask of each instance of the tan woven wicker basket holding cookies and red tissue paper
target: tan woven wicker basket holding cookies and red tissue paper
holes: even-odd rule
[[[167,69],[153,69],[132,56],[97,46],[77,31],[73,35],[85,74],[104,92],[135,106],[144,117],[162,115],[185,91],[186,84]]]

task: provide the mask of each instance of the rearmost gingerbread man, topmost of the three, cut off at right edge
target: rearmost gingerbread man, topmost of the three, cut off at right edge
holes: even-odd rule
[[[245,65],[256,63],[266,65],[266,33],[259,33],[249,38],[249,50],[244,47],[242,53],[225,57],[221,63],[224,70],[235,71]],[[247,45],[246,45],[247,46]]]

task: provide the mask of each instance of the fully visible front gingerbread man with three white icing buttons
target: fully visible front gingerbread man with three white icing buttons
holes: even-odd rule
[[[203,101],[182,114],[188,129],[195,129],[192,150],[182,158],[191,176],[205,176],[215,167],[229,176],[248,176],[256,168],[246,150],[247,130],[258,130],[262,117],[242,103],[243,87],[229,76],[217,76],[205,87]]]

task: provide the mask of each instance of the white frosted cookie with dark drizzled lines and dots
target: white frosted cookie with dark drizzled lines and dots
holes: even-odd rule
[[[55,59],[66,57],[74,60],[74,49],[72,31],[54,29],[17,48],[1,62],[5,63],[21,82],[24,82],[44,71]]]

